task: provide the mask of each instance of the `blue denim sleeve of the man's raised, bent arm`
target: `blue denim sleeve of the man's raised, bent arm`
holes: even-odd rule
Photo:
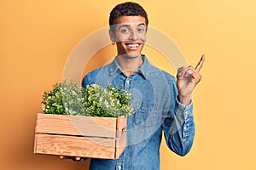
[[[172,84],[171,89],[170,105],[166,108],[166,116],[163,116],[162,128],[170,150],[179,156],[185,156],[195,138],[193,101],[187,106],[181,104],[177,99],[176,85]]]

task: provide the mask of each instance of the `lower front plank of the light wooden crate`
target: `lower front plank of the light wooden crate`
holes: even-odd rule
[[[38,133],[34,152],[58,156],[115,158],[115,139],[73,137]]]

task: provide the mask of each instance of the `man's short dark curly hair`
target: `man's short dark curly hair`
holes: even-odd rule
[[[108,20],[109,26],[116,25],[117,20],[121,16],[137,15],[143,16],[146,20],[146,26],[148,26],[148,14],[140,4],[133,2],[119,3],[110,12]]]

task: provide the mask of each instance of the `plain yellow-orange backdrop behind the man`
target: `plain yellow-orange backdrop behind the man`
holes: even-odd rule
[[[84,162],[32,153],[35,116],[41,111],[44,90],[61,81],[73,48],[108,26],[108,14],[120,2],[0,1],[0,169],[85,169]],[[195,144],[188,156],[180,157],[162,143],[161,169],[255,169],[255,1],[137,3],[148,11],[149,26],[172,37],[190,65],[196,65],[201,54],[207,57],[202,82],[193,94]],[[151,48],[143,52],[175,72]],[[96,66],[94,62],[92,67]]]

